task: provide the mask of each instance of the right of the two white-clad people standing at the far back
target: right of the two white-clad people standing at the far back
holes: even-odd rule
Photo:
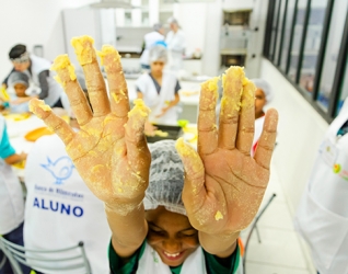
[[[169,68],[173,71],[178,71],[183,68],[186,38],[176,19],[170,18],[167,22],[171,27],[165,38],[169,49]]]

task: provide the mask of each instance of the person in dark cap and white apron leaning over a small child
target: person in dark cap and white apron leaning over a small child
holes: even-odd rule
[[[9,53],[10,60],[13,64],[13,69],[9,76],[3,80],[2,85],[8,87],[8,80],[13,71],[26,73],[31,81],[40,89],[38,95],[27,96],[22,99],[20,103],[27,102],[33,98],[44,100],[46,104],[51,107],[63,107],[60,96],[62,95],[62,88],[53,78],[50,61],[32,55],[26,50],[25,45],[15,45]]]

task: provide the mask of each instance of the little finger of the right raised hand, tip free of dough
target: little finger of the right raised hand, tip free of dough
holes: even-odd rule
[[[259,137],[254,159],[265,169],[269,169],[270,158],[274,152],[278,125],[278,112],[270,109],[266,113],[264,129]]]

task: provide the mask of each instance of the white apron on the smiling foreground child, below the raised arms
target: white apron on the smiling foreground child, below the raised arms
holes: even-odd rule
[[[192,253],[184,262],[181,274],[206,274],[205,255],[200,247]],[[170,266],[164,264],[150,244],[146,243],[146,249],[139,260],[137,274],[172,274]]]

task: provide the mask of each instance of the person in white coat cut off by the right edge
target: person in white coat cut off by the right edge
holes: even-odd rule
[[[348,273],[348,99],[318,149],[294,225],[320,274]]]

